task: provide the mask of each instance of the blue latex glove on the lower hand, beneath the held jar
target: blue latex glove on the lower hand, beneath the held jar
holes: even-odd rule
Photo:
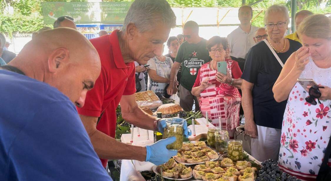
[[[151,146],[146,146],[146,162],[160,165],[166,163],[171,157],[177,155],[177,150],[168,150],[166,145],[173,143],[176,137],[172,136],[159,140]]]

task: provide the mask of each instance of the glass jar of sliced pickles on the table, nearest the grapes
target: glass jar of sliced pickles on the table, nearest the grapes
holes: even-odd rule
[[[228,158],[236,162],[244,159],[243,141],[231,139],[228,144]]]

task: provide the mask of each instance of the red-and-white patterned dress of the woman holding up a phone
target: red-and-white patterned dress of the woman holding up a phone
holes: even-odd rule
[[[228,59],[225,61],[228,74],[234,79],[239,79],[242,72],[238,62]],[[239,126],[241,95],[237,88],[216,81],[216,73],[216,70],[209,68],[209,63],[202,65],[193,87],[200,86],[207,77],[210,78],[209,83],[212,85],[200,93],[200,110],[204,117],[208,112],[208,118],[212,120],[214,126],[219,126],[218,118],[221,117],[222,128],[231,133]]]

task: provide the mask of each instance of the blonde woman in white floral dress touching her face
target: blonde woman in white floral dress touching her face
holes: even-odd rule
[[[331,135],[331,20],[312,15],[297,32],[303,47],[289,57],[273,87],[276,101],[288,98],[279,167],[301,180],[315,180]],[[310,86],[303,88],[298,78],[325,87],[319,89],[321,104],[306,102]]]

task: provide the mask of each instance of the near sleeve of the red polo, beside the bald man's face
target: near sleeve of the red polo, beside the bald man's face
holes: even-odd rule
[[[108,89],[108,85],[105,82],[106,80],[106,71],[103,67],[101,67],[101,73],[95,81],[93,89],[87,91],[84,106],[82,108],[77,107],[79,114],[84,116],[100,117],[102,104],[104,101],[104,93],[105,90]]]

